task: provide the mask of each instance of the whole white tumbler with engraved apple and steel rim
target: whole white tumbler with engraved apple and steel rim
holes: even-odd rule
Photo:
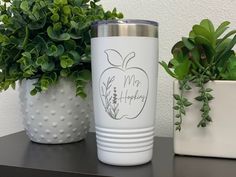
[[[145,164],[153,154],[158,24],[98,21],[91,35],[98,159],[119,166]]]

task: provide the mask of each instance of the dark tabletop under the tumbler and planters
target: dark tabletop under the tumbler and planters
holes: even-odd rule
[[[97,160],[95,134],[67,145],[41,145],[25,132],[0,138],[0,176],[4,177],[235,177],[236,160],[175,156],[172,138],[155,138],[151,163],[135,167]]]

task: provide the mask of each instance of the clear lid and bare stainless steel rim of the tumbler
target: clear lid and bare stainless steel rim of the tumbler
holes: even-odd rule
[[[158,23],[149,20],[106,20],[92,24],[92,38],[138,36],[158,38]]]

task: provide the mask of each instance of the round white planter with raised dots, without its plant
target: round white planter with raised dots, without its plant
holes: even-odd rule
[[[84,139],[92,113],[91,87],[88,97],[75,96],[75,85],[67,79],[44,93],[30,95],[34,80],[23,81],[20,100],[27,135],[37,143],[62,144]]]

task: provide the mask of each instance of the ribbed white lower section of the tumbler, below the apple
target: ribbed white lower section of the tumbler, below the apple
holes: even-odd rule
[[[141,165],[151,161],[154,127],[107,129],[96,127],[98,159],[118,166]]]

